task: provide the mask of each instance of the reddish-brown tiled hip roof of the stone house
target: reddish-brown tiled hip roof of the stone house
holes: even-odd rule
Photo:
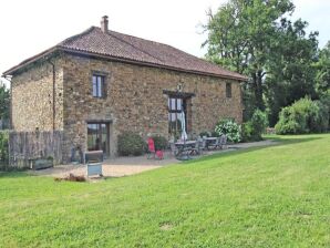
[[[100,28],[91,27],[86,31],[71,37],[58,45],[32,56],[19,65],[8,70],[4,74],[38,60],[54,50],[64,50],[91,55],[101,55],[110,59],[124,60],[151,66],[186,71],[196,74],[209,74],[219,78],[246,81],[247,78],[225,70],[203,59],[198,59],[167,44],[144,40],[141,38],[118,33],[115,31],[102,32]]]

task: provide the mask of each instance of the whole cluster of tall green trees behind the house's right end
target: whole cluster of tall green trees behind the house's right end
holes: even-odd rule
[[[307,34],[306,21],[289,19],[293,10],[291,0],[229,0],[208,13],[206,58],[249,76],[244,121],[267,108],[274,126],[283,106],[329,89],[330,46],[318,54],[318,32]]]

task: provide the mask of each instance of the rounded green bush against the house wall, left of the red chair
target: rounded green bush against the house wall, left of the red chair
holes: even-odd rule
[[[118,154],[122,156],[138,156],[145,152],[145,142],[143,138],[133,132],[124,132],[118,135]]]

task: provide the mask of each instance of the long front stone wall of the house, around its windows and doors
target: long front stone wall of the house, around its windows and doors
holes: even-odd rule
[[[111,154],[116,154],[116,136],[134,131],[143,136],[157,133],[168,136],[167,99],[163,90],[194,93],[192,131],[214,130],[219,117],[241,122],[241,92],[238,82],[214,76],[68,55],[64,66],[64,131],[66,151],[86,148],[86,121],[111,120]],[[106,73],[106,99],[92,96],[93,71]],[[226,82],[233,96],[226,97]]]

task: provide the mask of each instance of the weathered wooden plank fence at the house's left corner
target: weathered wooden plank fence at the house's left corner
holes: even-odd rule
[[[10,132],[9,165],[17,168],[29,167],[30,161],[52,157],[54,164],[62,162],[61,131],[53,132]]]

